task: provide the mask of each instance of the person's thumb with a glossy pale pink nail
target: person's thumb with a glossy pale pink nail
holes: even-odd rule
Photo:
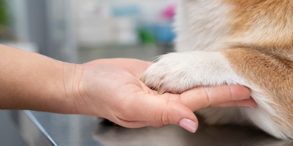
[[[188,107],[151,94],[136,92],[131,96],[139,98],[129,98],[122,103],[122,114],[118,116],[120,119],[176,124],[190,132],[196,131],[198,121]]]

